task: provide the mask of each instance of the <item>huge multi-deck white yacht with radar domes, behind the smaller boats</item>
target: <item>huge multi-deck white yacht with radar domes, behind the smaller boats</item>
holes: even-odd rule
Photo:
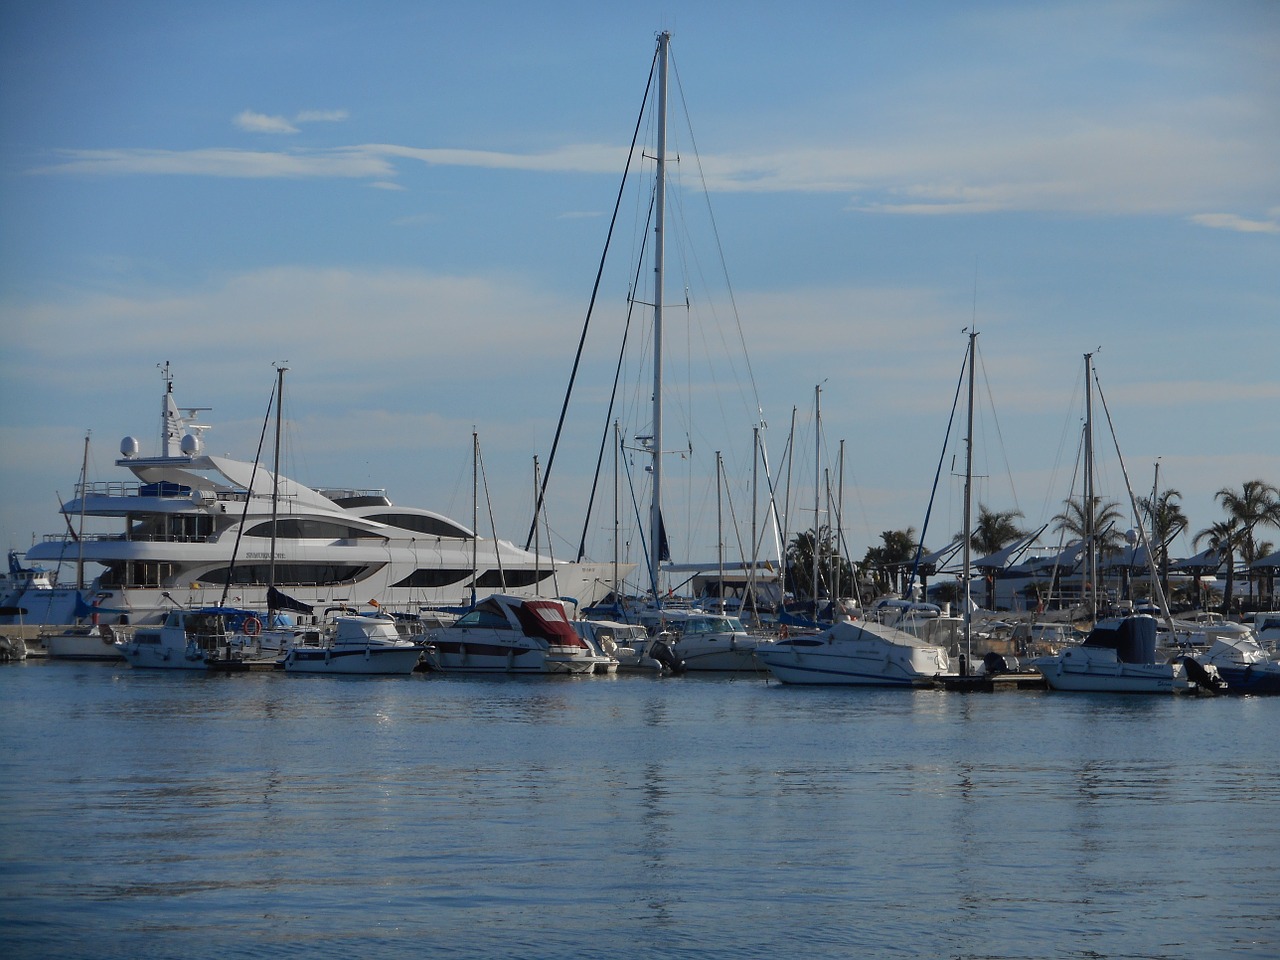
[[[174,608],[219,604],[228,582],[238,605],[265,609],[273,577],[306,604],[376,599],[404,613],[466,604],[477,590],[582,605],[609,591],[612,563],[552,561],[477,538],[440,513],[394,506],[384,490],[310,488],[283,475],[276,486],[261,465],[209,454],[201,439],[209,424],[197,421],[200,410],[178,406],[168,365],[164,379],[159,454],[140,456],[127,436],[116,466],[133,477],[82,483],[61,508],[67,517],[120,521],[118,532],[86,534],[73,548],[105,571],[83,596],[47,585],[14,596],[24,622],[69,623],[92,603],[95,622],[159,623]],[[64,562],[65,540],[46,538],[27,552],[28,562]],[[52,594],[61,602],[51,603]]]

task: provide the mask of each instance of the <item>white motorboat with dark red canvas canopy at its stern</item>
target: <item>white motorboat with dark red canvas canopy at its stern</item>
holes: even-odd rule
[[[428,664],[445,673],[608,673],[617,660],[591,649],[564,604],[494,594],[428,634]],[[611,668],[612,664],[612,668]]]

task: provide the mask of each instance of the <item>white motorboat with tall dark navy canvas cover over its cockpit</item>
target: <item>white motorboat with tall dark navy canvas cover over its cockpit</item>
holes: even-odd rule
[[[1156,618],[1147,614],[1100,620],[1082,644],[1034,666],[1051,690],[1176,694],[1196,686],[1180,659],[1156,657]]]

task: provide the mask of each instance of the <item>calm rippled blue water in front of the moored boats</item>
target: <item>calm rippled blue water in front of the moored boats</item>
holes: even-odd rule
[[[1280,956],[1280,698],[0,668],[5,957]]]

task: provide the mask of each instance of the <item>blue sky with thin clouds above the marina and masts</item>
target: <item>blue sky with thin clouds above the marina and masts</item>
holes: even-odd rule
[[[91,481],[155,452],[166,362],[210,452],[253,458],[280,364],[284,472],[466,524],[475,433],[479,527],[524,541],[600,270],[540,536],[609,559],[617,511],[639,559],[645,458],[607,440],[586,502],[660,31],[673,559],[750,540],[762,425],[792,535],[817,500],[855,558],[948,541],[970,329],[974,499],[1025,527],[1079,494],[1085,355],[1100,493],[1116,449],[1176,489],[1175,554],[1280,483],[1280,4],[51,0],[0,8],[0,543],[61,531],[86,434]]]

